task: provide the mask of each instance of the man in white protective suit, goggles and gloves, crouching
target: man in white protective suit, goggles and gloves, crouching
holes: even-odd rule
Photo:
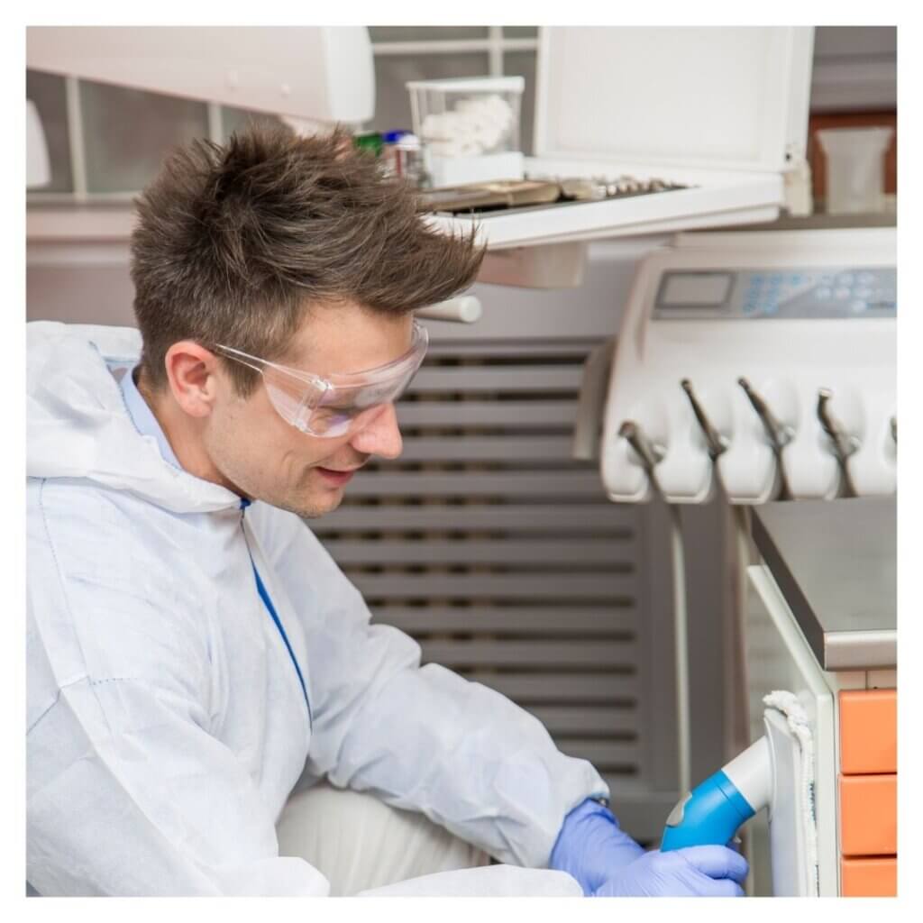
[[[588,762],[370,625],[302,520],[400,454],[393,402],[426,351],[411,312],[473,281],[473,240],[428,229],[342,132],[194,143],[138,216],[139,337],[30,325],[31,886],[328,893],[279,853],[300,779],[556,869],[512,891],[740,893],[736,853],[644,854]]]

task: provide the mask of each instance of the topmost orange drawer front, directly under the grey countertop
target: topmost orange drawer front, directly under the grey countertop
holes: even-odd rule
[[[840,772],[897,772],[897,690],[840,693]]]

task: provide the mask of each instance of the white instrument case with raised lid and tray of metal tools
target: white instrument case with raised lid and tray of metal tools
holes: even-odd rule
[[[492,250],[773,221],[807,182],[812,43],[809,27],[543,26],[523,174],[579,178],[585,198],[434,190],[421,213]],[[637,186],[600,196],[599,176]]]

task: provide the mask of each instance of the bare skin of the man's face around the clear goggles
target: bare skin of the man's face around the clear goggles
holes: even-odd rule
[[[390,317],[355,305],[315,308],[280,362],[321,378],[366,371],[406,353],[412,328],[410,315]],[[299,516],[323,516],[340,505],[349,472],[372,455],[401,454],[393,406],[345,436],[306,436],[276,413],[261,379],[241,398],[227,374],[219,375],[220,398],[203,440],[211,462],[239,494]]]

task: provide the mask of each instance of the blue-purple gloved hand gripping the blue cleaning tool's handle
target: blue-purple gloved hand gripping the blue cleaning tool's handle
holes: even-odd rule
[[[726,846],[653,850],[611,875],[593,897],[743,897],[748,869]]]

